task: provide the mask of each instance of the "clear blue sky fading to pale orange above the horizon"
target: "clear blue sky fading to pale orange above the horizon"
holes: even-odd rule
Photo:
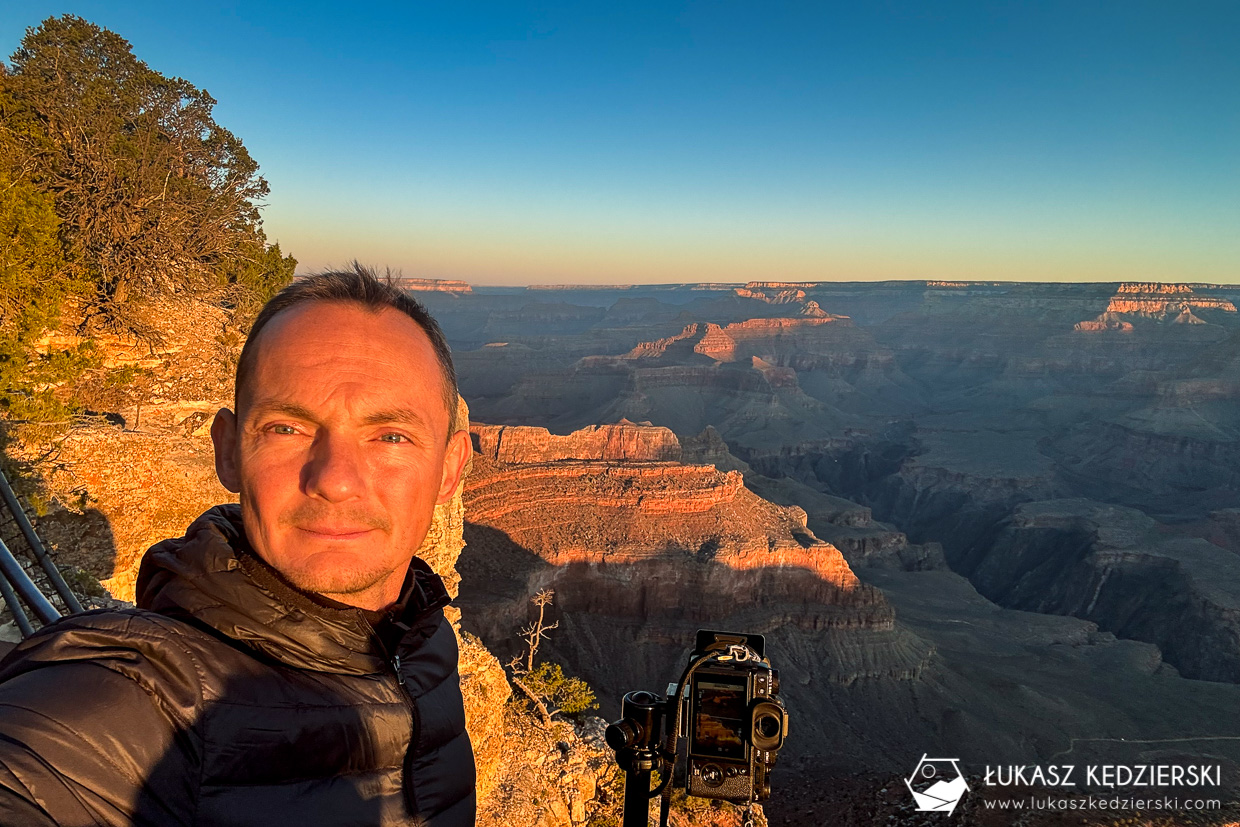
[[[45,2],[218,99],[303,269],[1240,281],[1240,2]]]

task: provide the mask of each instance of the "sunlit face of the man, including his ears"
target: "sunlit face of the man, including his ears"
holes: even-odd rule
[[[274,316],[257,345],[239,410],[212,424],[219,481],[290,583],[382,609],[469,458],[467,433],[446,439],[430,340],[398,310],[317,301]]]

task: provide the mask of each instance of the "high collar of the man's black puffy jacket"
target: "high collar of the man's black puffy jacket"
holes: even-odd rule
[[[138,573],[138,605],[179,617],[288,666],[374,674],[387,653],[360,609],[330,605],[284,580],[250,551],[236,503],[216,506],[185,537],[154,546]],[[398,605],[401,621],[438,616],[449,596],[414,558]]]

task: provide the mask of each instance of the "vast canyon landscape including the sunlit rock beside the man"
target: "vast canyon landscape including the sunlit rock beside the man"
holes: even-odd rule
[[[541,652],[604,718],[697,629],[766,636],[792,715],[773,823],[926,753],[1238,777],[1240,288],[405,286],[469,409],[420,553],[459,591],[482,823],[614,812],[598,724],[548,735],[511,702],[544,589]],[[42,466],[40,529],[113,598],[228,498],[207,429],[238,342],[187,312],[157,358],[114,348],[153,372],[144,402]]]

